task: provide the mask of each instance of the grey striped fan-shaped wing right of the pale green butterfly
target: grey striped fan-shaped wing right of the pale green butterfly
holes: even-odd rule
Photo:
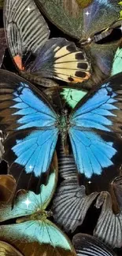
[[[85,187],[79,186],[77,177],[66,179],[58,187],[54,198],[54,220],[66,232],[74,232],[83,223],[87,210],[98,193],[86,195]]]

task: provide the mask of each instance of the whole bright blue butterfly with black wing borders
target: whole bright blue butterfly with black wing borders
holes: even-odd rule
[[[57,113],[31,83],[0,70],[0,128],[9,132],[3,159],[10,173],[47,175],[59,134],[65,152],[69,136],[79,176],[90,179],[105,169],[119,170],[121,79],[122,73],[98,86],[68,115],[65,109]]]

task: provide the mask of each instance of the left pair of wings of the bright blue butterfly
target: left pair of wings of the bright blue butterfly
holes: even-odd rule
[[[18,180],[22,173],[46,176],[57,143],[57,115],[46,98],[27,81],[0,71],[0,128],[9,132],[3,158]]]

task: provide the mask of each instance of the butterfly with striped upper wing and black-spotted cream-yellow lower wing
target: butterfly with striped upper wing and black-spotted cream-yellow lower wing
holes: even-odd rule
[[[84,50],[64,38],[49,39],[50,30],[33,0],[6,0],[6,40],[13,61],[22,76],[46,87],[50,79],[83,82],[91,76]]]

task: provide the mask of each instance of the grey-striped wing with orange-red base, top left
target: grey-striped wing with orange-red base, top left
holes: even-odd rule
[[[24,70],[50,35],[46,21],[34,1],[6,0],[4,24],[9,51],[17,68]]]

